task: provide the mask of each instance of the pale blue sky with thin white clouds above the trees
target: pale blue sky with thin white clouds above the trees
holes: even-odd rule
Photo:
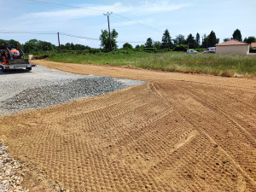
[[[36,38],[57,45],[61,32],[61,44],[99,48],[101,32],[108,30],[103,14],[113,12],[110,28],[119,33],[119,48],[125,42],[145,44],[147,38],[161,41],[166,29],[172,38],[197,32],[202,38],[213,31],[222,43],[237,28],[242,38],[256,37],[255,8],[256,0],[0,0],[0,39],[25,44]],[[51,34],[10,33],[17,31]]]

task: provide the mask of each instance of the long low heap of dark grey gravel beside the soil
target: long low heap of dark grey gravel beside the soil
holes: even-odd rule
[[[64,84],[53,84],[23,90],[3,102],[2,108],[9,111],[19,111],[26,108],[46,108],[82,97],[99,96],[125,87],[125,84],[109,77],[91,76],[86,79],[68,81]]]

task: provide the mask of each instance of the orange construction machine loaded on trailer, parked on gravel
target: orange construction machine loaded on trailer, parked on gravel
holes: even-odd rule
[[[35,63],[30,63],[28,59],[25,59],[22,49],[18,48],[19,44],[0,46],[0,67],[3,72],[8,69],[26,68],[26,70],[32,70],[32,67],[37,67]]]

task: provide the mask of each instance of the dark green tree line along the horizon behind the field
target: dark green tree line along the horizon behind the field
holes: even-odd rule
[[[110,40],[109,34],[107,30],[102,30],[102,34],[100,35],[99,40],[101,41],[101,49],[104,52],[112,51],[118,49],[117,38],[119,33],[113,29],[110,32]],[[229,41],[230,39],[236,39],[238,41],[242,41],[241,32],[239,29],[236,29],[233,32],[231,38],[224,38],[225,41]],[[243,42],[247,44],[251,44],[256,42],[256,38],[253,36],[244,38]],[[161,41],[154,41],[152,38],[147,38],[145,44],[137,44],[134,48],[131,44],[125,43],[123,44],[123,49],[166,49],[166,50],[176,50],[176,51],[186,51],[187,49],[206,49],[208,47],[214,47],[215,44],[219,43],[219,38],[216,37],[215,32],[210,32],[208,35],[204,34],[201,38],[200,34],[197,32],[195,37],[190,33],[187,38],[185,38],[182,34],[176,36],[176,38],[172,38],[168,29],[162,35]],[[2,44],[20,44],[18,41],[14,39],[3,40],[0,39],[0,45]],[[61,44],[56,46],[49,42],[40,41],[38,39],[31,39],[27,41],[25,44],[20,44],[20,47],[24,49],[26,53],[35,53],[39,51],[57,51],[61,50],[90,50],[89,46],[83,44]]]

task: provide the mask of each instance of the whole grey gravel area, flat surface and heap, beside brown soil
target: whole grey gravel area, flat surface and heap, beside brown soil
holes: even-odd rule
[[[82,97],[99,96],[143,81],[76,75],[38,66],[31,72],[0,73],[0,117],[30,108],[47,108]]]

